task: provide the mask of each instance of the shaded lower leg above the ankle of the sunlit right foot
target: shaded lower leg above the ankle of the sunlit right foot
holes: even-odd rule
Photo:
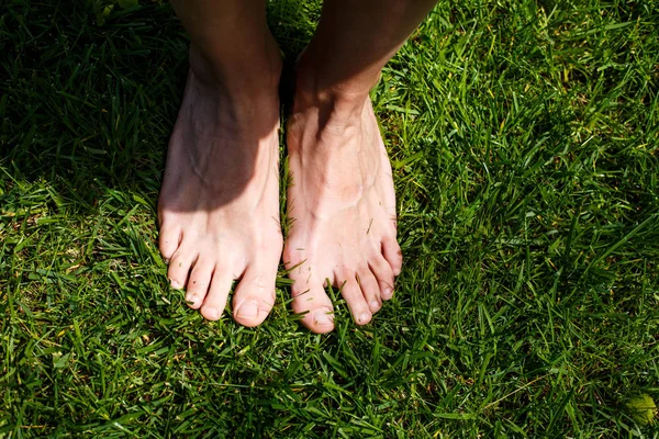
[[[436,0],[326,0],[298,65],[298,88],[324,99],[361,97]]]

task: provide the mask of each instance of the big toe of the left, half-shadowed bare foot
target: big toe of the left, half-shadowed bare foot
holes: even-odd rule
[[[277,262],[254,263],[245,271],[233,300],[234,319],[241,325],[260,325],[275,304]]]

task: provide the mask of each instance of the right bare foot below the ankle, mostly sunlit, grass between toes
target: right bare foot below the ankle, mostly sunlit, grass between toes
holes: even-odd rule
[[[368,95],[315,99],[298,91],[287,126],[288,215],[283,261],[295,313],[314,333],[334,328],[326,280],[358,325],[393,294],[401,271],[391,165]]]

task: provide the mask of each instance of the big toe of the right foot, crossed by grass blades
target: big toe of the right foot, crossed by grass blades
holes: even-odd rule
[[[320,279],[293,279],[291,288],[293,295],[293,313],[302,314],[302,325],[316,334],[330,333],[334,329],[334,306],[325,294]]]

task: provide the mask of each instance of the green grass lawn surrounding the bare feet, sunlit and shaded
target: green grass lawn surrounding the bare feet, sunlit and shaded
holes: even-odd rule
[[[657,437],[659,3],[442,0],[373,91],[396,295],[360,328],[204,322],[155,203],[167,4],[0,9],[0,437]],[[268,3],[288,60],[315,2]]]

